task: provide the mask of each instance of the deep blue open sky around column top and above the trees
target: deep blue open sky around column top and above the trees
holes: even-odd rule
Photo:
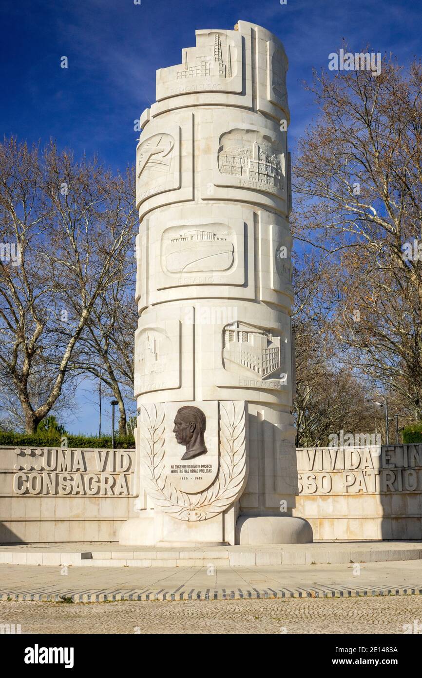
[[[316,116],[302,81],[327,68],[343,39],[351,52],[421,54],[421,9],[400,0],[3,0],[0,17],[0,130],[28,142],[50,137],[76,157],[98,156],[113,169],[135,159],[133,121],[155,98],[157,68],[178,64],[197,28],[232,28],[239,19],[275,33],[289,58],[289,143]],[[68,57],[68,68],[60,58]],[[80,391],[70,431],[95,431],[98,414]],[[106,412],[107,414],[107,405]]]

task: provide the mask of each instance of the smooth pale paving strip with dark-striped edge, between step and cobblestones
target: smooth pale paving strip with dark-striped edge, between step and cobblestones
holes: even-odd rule
[[[357,574],[354,574],[357,573]],[[0,565],[0,600],[101,602],[422,595],[421,561],[266,567]],[[421,599],[422,605],[422,599]]]

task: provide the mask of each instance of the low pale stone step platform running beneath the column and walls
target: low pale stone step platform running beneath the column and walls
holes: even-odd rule
[[[266,567],[328,565],[422,559],[422,542],[316,542],[273,546],[209,546],[169,549],[159,546],[100,544],[5,544],[7,565],[89,567]]]

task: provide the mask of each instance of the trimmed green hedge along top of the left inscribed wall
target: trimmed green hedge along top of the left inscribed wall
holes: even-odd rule
[[[100,448],[102,450],[110,449],[111,436],[104,435],[99,438],[97,435],[67,435],[68,447]],[[3,433],[0,432],[0,445],[16,445],[16,447],[60,447],[60,436],[40,435],[39,433]],[[135,440],[132,436],[116,437],[114,447],[117,449],[126,448],[133,450]]]

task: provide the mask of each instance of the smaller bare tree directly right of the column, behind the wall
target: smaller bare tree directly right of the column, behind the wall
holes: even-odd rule
[[[374,406],[366,401],[359,374],[342,369],[341,346],[332,331],[337,297],[329,260],[296,252],[294,261],[297,445],[326,445],[341,428],[369,433]]]

